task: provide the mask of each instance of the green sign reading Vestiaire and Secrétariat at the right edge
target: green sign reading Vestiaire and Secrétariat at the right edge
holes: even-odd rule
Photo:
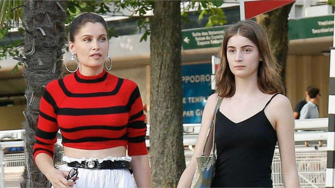
[[[288,20],[288,39],[332,36],[334,15]]]

